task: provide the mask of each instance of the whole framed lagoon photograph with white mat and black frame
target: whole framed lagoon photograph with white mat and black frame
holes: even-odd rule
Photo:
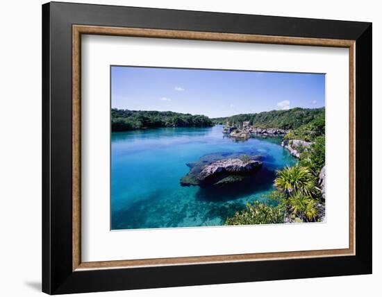
[[[42,6],[42,290],[372,273],[372,24]]]

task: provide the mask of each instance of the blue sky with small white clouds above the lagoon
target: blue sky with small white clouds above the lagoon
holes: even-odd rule
[[[208,117],[319,108],[325,105],[325,75],[113,66],[111,105]]]

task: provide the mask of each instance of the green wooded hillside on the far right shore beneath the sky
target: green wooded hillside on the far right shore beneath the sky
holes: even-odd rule
[[[219,117],[213,119],[214,124],[238,124],[242,121],[249,121],[249,125],[256,128],[279,128],[296,129],[303,125],[308,125],[317,121],[317,126],[325,126],[324,108],[292,108],[290,110],[272,110],[269,112],[259,112],[255,114],[236,114],[232,117]],[[310,127],[306,127],[308,129]]]

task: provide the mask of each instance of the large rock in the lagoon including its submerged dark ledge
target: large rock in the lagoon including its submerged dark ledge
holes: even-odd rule
[[[261,167],[261,158],[260,155],[247,155],[245,153],[204,155],[197,162],[187,164],[190,171],[181,178],[180,182],[182,186],[239,183]]]

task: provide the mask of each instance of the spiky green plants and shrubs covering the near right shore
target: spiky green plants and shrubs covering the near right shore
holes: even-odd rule
[[[294,128],[285,135],[285,139],[304,139],[312,144],[308,148],[301,148],[300,160],[295,166],[276,171],[276,191],[265,197],[268,203],[255,201],[253,205],[247,205],[244,210],[228,218],[226,225],[312,222],[322,219],[325,199],[319,185],[319,173],[325,166],[325,118],[323,108],[315,111],[317,113],[310,121],[300,126],[292,124]]]

